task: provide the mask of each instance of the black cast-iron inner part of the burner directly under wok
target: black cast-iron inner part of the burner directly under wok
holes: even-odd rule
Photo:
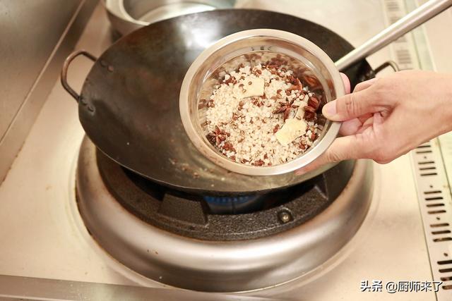
[[[315,178],[262,195],[196,195],[138,176],[97,150],[107,189],[139,219],[165,231],[201,240],[244,240],[287,231],[328,207],[347,185],[355,161]],[[240,200],[240,201],[239,201]],[[290,215],[281,219],[281,212]]]

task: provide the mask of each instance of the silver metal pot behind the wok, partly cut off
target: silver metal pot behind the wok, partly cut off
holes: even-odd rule
[[[161,20],[189,13],[233,8],[235,0],[102,0],[108,18],[121,35]]]

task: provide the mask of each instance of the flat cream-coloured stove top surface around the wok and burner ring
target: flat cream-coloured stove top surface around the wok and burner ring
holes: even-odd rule
[[[275,1],[237,1],[240,7],[273,9],[313,20],[335,30],[355,45],[364,42],[367,37],[381,30],[389,22],[388,16],[393,11],[386,9],[388,3],[391,3],[391,6],[395,6],[393,3],[396,3],[403,9],[403,1],[345,1],[340,6],[332,5],[327,1],[317,4],[313,1],[304,1],[297,6],[294,6],[292,1],[278,1],[278,5],[275,5]],[[439,16],[438,22],[441,23],[443,20],[447,23],[448,17],[452,18],[450,11],[445,13],[449,14],[446,17],[443,16],[446,20]],[[326,14],[334,18],[325,18]],[[430,21],[431,26],[426,26],[421,32],[408,35],[407,37],[410,38],[406,40],[410,43],[410,39],[415,39],[416,42],[419,38],[418,34],[420,36],[425,34],[429,51],[422,51],[422,47],[416,48],[417,53],[416,49],[398,48],[401,45],[400,42],[369,57],[371,66],[376,67],[389,58],[399,63],[402,61],[407,64],[406,68],[410,66],[429,68],[430,66],[436,70],[444,70],[450,66],[446,60],[445,63],[441,63],[438,59],[444,56],[441,56],[441,51],[435,47],[435,32],[440,25],[434,21],[436,22],[436,20]],[[110,37],[107,18],[102,7],[99,6],[76,48],[85,48],[99,55],[111,44]],[[443,39],[441,39],[441,47],[444,49]],[[412,57],[420,59],[407,61],[406,51],[409,54],[416,54]],[[429,58],[429,52],[434,55],[433,59]],[[80,88],[91,63],[83,60],[75,63],[76,67],[74,65],[74,70],[70,71],[69,77],[71,82]],[[446,70],[450,72],[452,68]],[[17,286],[17,283],[27,285],[28,293],[35,294],[35,297],[43,297],[42,294],[45,292],[47,295],[44,297],[61,298],[63,296],[55,293],[59,288],[60,292],[72,293],[73,299],[78,298],[77,292],[85,291],[83,287],[96,289],[99,293],[112,288],[109,285],[130,285],[121,287],[126,289],[121,290],[122,292],[129,293],[134,289],[138,290],[136,285],[169,288],[140,276],[109,257],[85,228],[75,202],[76,162],[83,134],[83,129],[78,122],[76,103],[64,92],[59,82],[56,82],[28,140],[18,154],[6,180],[0,185],[0,238],[4,242],[0,247],[0,274],[6,275],[0,278],[0,296],[23,295],[23,287]],[[450,140],[449,137],[450,135],[445,135],[438,141],[441,145],[445,145]],[[450,158],[450,155],[441,153],[437,145],[437,140],[434,140],[431,145],[432,154],[435,155],[434,161],[441,164],[443,158]],[[435,276],[442,275],[444,280],[441,281],[448,281],[450,277],[447,271],[439,272],[440,269],[447,270],[450,264],[444,253],[452,254],[452,251],[446,252],[441,249],[446,245],[442,242],[436,244],[443,258],[432,260],[433,265],[429,261],[427,236],[424,234],[422,223],[422,214],[427,207],[424,203],[421,203],[420,207],[418,202],[418,192],[422,195],[425,191],[429,191],[427,190],[429,186],[426,184],[427,187],[424,189],[421,187],[424,184],[417,178],[415,180],[412,155],[402,156],[391,164],[373,165],[375,189],[369,214],[350,243],[309,277],[300,278],[296,283],[246,293],[241,295],[242,298],[254,295],[297,300],[340,298],[345,300],[436,300],[436,295],[431,290],[393,294],[384,290],[361,292],[362,281],[364,283],[365,281],[372,283],[374,280],[382,283],[433,281],[432,270]],[[441,173],[447,183],[444,168],[436,173]],[[448,176],[450,179],[451,173]],[[425,177],[422,176],[422,178]],[[448,186],[443,182],[441,185],[444,199],[450,202]],[[434,214],[430,216],[432,219],[438,217]],[[452,221],[448,215],[439,217],[441,221],[435,223]],[[429,228],[426,229],[426,232],[432,232]],[[442,235],[435,238],[444,237],[448,236]],[[431,241],[427,237],[429,245],[432,244]],[[444,243],[447,243],[447,240]],[[23,277],[49,280],[40,282]],[[63,280],[63,282],[52,282],[52,279]],[[16,286],[13,283],[16,283]],[[35,285],[44,283],[48,285],[47,288],[53,288],[53,290],[38,288],[32,290],[31,283]],[[109,285],[102,286],[95,283]],[[189,295],[186,296],[189,297]],[[440,294],[438,296],[441,297]],[[220,297],[218,295],[218,299]],[[228,296],[228,298],[232,300],[234,297]]]

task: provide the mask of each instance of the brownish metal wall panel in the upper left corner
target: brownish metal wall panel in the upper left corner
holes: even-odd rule
[[[1,1],[0,183],[97,0]]]

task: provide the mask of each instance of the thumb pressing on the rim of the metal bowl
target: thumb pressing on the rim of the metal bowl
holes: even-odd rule
[[[376,111],[372,89],[346,94],[323,106],[323,115],[332,121],[347,121]]]

